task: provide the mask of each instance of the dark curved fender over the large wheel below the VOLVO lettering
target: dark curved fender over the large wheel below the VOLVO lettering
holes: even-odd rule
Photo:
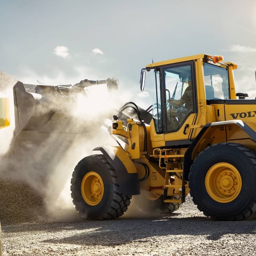
[[[205,134],[208,132],[208,130],[210,129],[211,126],[217,126],[217,125],[224,126],[226,124],[238,125],[256,143],[256,132],[253,129],[251,129],[251,127],[248,124],[246,124],[245,122],[243,122],[242,120],[230,120],[230,121],[212,122],[212,123],[205,124],[203,126],[202,130],[199,132],[197,137],[194,139],[194,141],[191,143],[191,145],[188,147],[187,151],[185,152],[183,173],[184,173],[184,178],[186,181],[188,181],[190,167],[194,162],[194,160],[192,159],[192,154],[193,154],[193,151],[194,151],[195,147],[197,146],[199,140],[205,136]]]

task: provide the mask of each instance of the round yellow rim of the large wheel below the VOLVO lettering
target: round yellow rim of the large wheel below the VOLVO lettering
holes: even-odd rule
[[[238,197],[242,188],[242,178],[232,164],[217,163],[208,170],[205,187],[212,199],[219,203],[229,203]]]

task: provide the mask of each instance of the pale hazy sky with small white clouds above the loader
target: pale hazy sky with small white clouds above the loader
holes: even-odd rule
[[[237,92],[255,98],[255,13],[255,0],[1,0],[0,70],[32,84],[116,77],[147,108],[154,90],[139,79],[152,57],[207,53],[237,63]]]

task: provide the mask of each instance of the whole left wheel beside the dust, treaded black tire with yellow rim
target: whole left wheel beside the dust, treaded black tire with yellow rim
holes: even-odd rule
[[[71,179],[71,197],[79,215],[89,220],[110,220],[123,215],[132,196],[120,191],[115,169],[103,155],[83,158]]]

